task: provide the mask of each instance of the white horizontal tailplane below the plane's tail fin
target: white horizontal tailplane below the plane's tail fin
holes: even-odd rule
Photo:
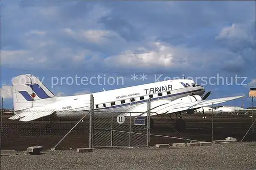
[[[45,117],[45,116],[49,116],[51,115],[52,113],[54,113],[55,110],[47,110],[47,111],[23,111],[22,113],[20,114],[16,114],[12,117],[10,117],[9,119],[19,119],[19,121],[22,121],[22,122],[29,122],[31,120],[35,120],[35,119],[38,119],[40,117]]]

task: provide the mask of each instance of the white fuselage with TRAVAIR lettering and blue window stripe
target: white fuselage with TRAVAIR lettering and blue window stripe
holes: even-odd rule
[[[95,111],[125,112],[127,109],[146,103],[168,99],[174,101],[187,95],[203,95],[204,87],[192,80],[168,80],[144,85],[92,93]],[[79,119],[90,110],[90,95],[57,97],[56,102],[46,106],[54,109],[54,119]],[[84,111],[84,112],[83,112]]]

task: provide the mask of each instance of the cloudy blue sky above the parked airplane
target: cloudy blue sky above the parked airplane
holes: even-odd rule
[[[185,76],[249,107],[255,44],[255,1],[2,1],[1,96],[22,74],[58,96]]]

